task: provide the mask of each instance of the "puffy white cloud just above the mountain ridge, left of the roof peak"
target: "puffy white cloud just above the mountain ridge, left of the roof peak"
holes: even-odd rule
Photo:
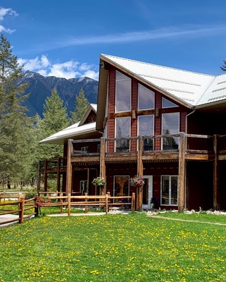
[[[57,78],[82,78],[87,76],[98,80],[96,66],[78,61],[66,61],[64,63],[52,63],[46,55],[38,56],[35,59],[18,59],[20,66],[23,65],[25,71],[34,71],[44,76],[56,76]]]

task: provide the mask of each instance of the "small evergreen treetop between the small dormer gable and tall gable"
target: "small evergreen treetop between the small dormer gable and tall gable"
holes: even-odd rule
[[[81,121],[81,118],[83,118],[83,115],[85,114],[85,111],[87,110],[88,106],[88,99],[85,98],[84,90],[83,88],[81,88],[79,94],[76,95],[75,110],[71,111],[70,113],[71,124]]]

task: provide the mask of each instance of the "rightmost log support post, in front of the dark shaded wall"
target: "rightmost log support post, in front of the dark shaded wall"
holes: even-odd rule
[[[218,161],[218,135],[213,139],[214,161],[213,161],[213,209],[220,209],[219,195],[219,161]]]

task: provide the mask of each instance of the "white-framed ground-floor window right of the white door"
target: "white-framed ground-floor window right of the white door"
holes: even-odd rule
[[[177,178],[178,176],[162,176],[161,204],[177,206]]]

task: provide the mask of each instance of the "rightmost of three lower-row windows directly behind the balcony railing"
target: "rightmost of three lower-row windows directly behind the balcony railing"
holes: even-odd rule
[[[162,114],[162,135],[179,134],[179,113]],[[162,138],[162,149],[178,149],[178,137]]]

